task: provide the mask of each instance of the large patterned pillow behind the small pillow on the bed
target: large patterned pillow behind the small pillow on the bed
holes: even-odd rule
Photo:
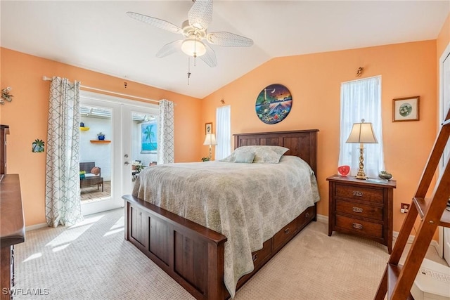
[[[220,159],[221,162],[236,162],[236,156],[240,153],[255,153],[255,158],[253,163],[255,164],[278,164],[280,162],[281,156],[289,149],[281,146],[270,146],[270,145],[253,145],[253,146],[242,146],[236,148],[231,155]]]

